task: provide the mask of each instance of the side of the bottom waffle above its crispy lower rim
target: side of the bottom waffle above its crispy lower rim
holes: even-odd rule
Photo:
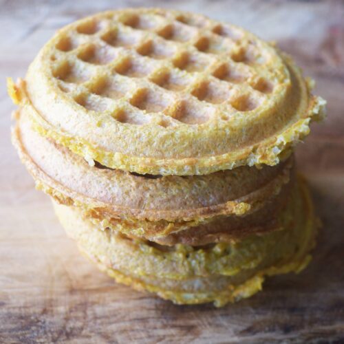
[[[99,230],[78,208],[54,204],[67,234],[104,258],[105,264],[138,276],[184,280],[213,275],[235,276],[241,270],[256,268],[268,257],[288,259],[294,255],[305,233],[305,204],[295,185],[288,207],[281,213],[281,230],[264,235],[250,235],[232,243],[206,246],[177,244],[167,248],[151,241],[131,239],[121,233]],[[304,212],[304,213],[303,213]],[[147,261],[142,261],[147,257]]]

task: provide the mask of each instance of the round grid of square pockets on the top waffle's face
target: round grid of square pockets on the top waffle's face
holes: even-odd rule
[[[132,125],[200,125],[274,94],[262,44],[200,15],[128,10],[69,26],[50,60],[58,87],[88,111]]]

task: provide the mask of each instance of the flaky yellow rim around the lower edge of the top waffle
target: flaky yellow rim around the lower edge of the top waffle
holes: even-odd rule
[[[10,88],[10,94],[21,94],[21,104],[25,106],[28,98],[23,96],[25,94],[23,85],[24,82],[21,80],[16,86],[17,91],[14,92]],[[18,101],[17,98],[15,101]],[[267,164],[274,166],[278,164],[286,155],[290,155],[295,144],[310,133],[311,120],[319,121],[325,118],[325,105],[326,101],[323,98],[313,96],[310,100],[308,112],[303,118],[294,122],[291,127],[288,127],[279,135],[269,137],[259,144],[246,147],[239,152],[229,152],[206,158],[183,158],[179,160],[138,158],[119,152],[105,151],[87,140],[59,131],[41,116],[35,114],[34,111],[28,112],[30,112],[33,128],[36,131],[42,136],[52,138],[58,144],[62,144],[74,153],[83,156],[91,165],[94,164],[94,161],[97,161],[111,169],[133,171],[140,174],[203,175],[225,169],[234,169],[244,165],[259,166]]]

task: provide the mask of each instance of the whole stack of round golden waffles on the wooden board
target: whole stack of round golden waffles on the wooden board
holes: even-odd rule
[[[288,56],[159,9],[60,30],[25,80],[12,141],[82,252],[116,281],[220,306],[310,261],[292,147],[324,116]]]

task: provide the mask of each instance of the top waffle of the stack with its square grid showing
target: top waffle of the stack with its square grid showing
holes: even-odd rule
[[[36,130],[91,164],[161,175],[277,164],[325,103],[249,32],[160,9],[66,26],[10,93]]]

